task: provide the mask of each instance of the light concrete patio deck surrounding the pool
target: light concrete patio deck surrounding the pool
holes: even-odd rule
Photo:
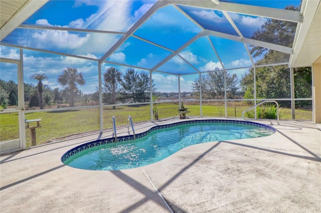
[[[171,122],[140,123],[135,131]],[[272,122],[277,132],[270,136],[196,144],[156,163],[117,171],[60,161],[72,147],[111,132],[5,154],[0,211],[320,212],[321,125]]]

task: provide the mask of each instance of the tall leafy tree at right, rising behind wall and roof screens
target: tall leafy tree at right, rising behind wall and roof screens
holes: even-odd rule
[[[299,10],[299,7],[292,5],[286,6],[285,9]],[[252,39],[276,43],[283,46],[292,47],[296,23],[283,20],[269,19],[260,29],[252,35]],[[250,53],[253,57],[260,57],[256,61],[257,65],[273,64],[286,62],[289,60],[289,54],[275,50],[250,45]],[[296,68],[295,72],[304,75],[310,75],[306,68]],[[307,68],[310,70],[310,68]],[[290,69],[287,65],[257,67],[256,70],[256,97],[257,98],[289,98],[290,97]],[[297,75],[298,76],[298,75]],[[294,76],[295,96],[304,96],[308,93],[306,88],[299,88],[298,78]],[[254,98],[254,70],[250,68],[240,80],[240,85],[244,92],[244,98]],[[307,80],[309,81],[309,80]],[[306,84],[304,84],[306,85]],[[305,96],[307,97],[307,96]],[[296,101],[297,102],[297,101]],[[283,106],[289,106],[289,101],[282,101]]]

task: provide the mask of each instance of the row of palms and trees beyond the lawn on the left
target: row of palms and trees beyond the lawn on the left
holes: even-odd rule
[[[85,84],[82,72],[77,68],[68,67],[63,69],[62,74],[57,78],[57,82],[62,86],[50,88],[43,82],[48,79],[45,73],[30,75],[30,79],[36,80],[37,85],[24,83],[25,103],[27,107],[39,107],[60,104],[69,104],[70,107],[77,104],[90,104],[92,101],[98,103],[98,89],[91,94],[83,94],[78,85]],[[108,68],[103,74],[102,96],[103,103],[115,104],[117,102],[144,102],[149,101],[149,73],[145,71],[137,72],[133,68],[128,68],[125,74],[115,67]],[[154,80],[152,88],[155,91]],[[0,105],[2,108],[18,105],[18,84],[13,81],[0,79]]]

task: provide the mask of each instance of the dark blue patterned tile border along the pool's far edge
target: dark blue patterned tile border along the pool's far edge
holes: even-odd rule
[[[180,125],[185,125],[185,124],[193,124],[193,123],[231,123],[231,124],[242,124],[242,125],[251,125],[251,126],[255,126],[255,127],[259,127],[259,128],[264,128],[266,130],[269,130],[273,133],[276,132],[276,129],[273,128],[272,126],[266,125],[266,124],[262,124],[262,123],[257,123],[257,122],[253,122],[253,121],[243,121],[243,120],[222,120],[222,119],[204,119],[204,120],[187,120],[187,121],[179,121],[176,123],[171,123],[171,124],[164,124],[164,125],[158,125],[158,126],[153,126],[150,129],[148,129],[145,132],[141,132],[138,134],[135,134],[135,138],[141,138],[144,136],[147,136],[150,132],[158,130],[158,129],[164,129],[164,128],[171,128],[171,127],[175,127],[175,126],[180,126]],[[122,141],[130,141],[134,139],[134,136],[131,135],[126,135],[126,136],[120,136],[117,137],[119,142]],[[104,139],[99,139],[99,140],[94,140],[94,141],[90,141],[90,142],[86,142],[84,144],[78,145],[70,150],[68,150],[67,152],[65,152],[62,157],[61,157],[61,161],[65,162],[69,157],[73,156],[74,154],[78,153],[79,151],[83,151],[85,149],[94,147],[94,146],[99,146],[102,144],[106,144],[106,143],[114,143],[115,139],[113,137],[109,137],[109,138],[104,138]]]

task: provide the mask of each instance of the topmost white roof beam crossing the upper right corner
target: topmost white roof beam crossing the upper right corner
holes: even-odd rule
[[[171,2],[178,5],[195,6],[200,8],[215,9],[220,11],[254,15],[259,17],[267,17],[278,20],[301,22],[301,14],[299,11],[287,9],[277,9],[271,7],[254,6],[223,1],[220,1],[219,4],[216,4],[211,0],[171,0]]]

